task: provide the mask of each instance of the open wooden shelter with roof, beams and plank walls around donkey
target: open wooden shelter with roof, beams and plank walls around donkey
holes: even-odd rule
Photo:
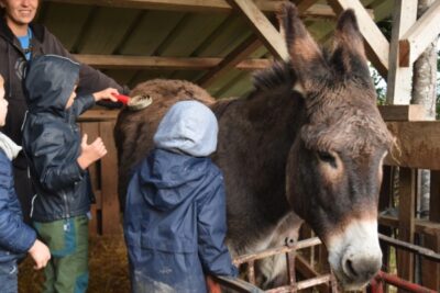
[[[216,98],[251,90],[250,74],[274,58],[287,58],[278,31],[280,0],[44,0],[37,21],[75,54],[118,82],[133,87],[152,78],[186,79]],[[399,239],[440,251],[440,122],[422,120],[422,109],[409,105],[411,66],[440,33],[440,0],[417,20],[415,0],[295,0],[315,36],[327,45],[341,10],[354,9],[367,57],[388,80],[391,105],[381,109],[396,136],[400,155],[387,159],[400,167],[398,215],[380,223],[397,229]],[[388,41],[377,27],[393,22]],[[117,159],[112,127],[117,113],[94,110],[81,117],[89,136],[101,136],[110,155],[91,169],[98,195],[94,233],[120,232]],[[91,138],[92,138],[91,137]],[[396,153],[397,154],[397,153]],[[429,219],[417,218],[415,203],[419,168],[432,170]],[[391,171],[385,169],[381,209],[389,205]],[[388,194],[388,195],[387,195]],[[413,280],[414,257],[398,253],[398,273]],[[424,260],[422,283],[440,290],[440,266]]]

